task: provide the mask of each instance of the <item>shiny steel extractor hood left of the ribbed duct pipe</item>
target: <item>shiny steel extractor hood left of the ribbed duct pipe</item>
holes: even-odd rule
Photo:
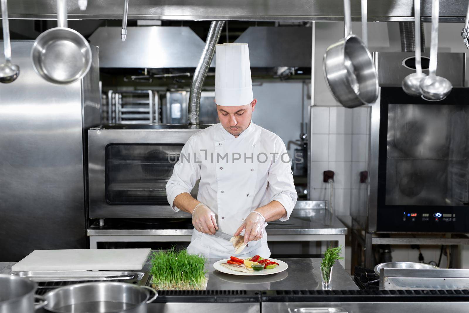
[[[205,46],[189,27],[128,27],[125,41],[120,27],[99,27],[89,39],[102,68],[195,68]]]

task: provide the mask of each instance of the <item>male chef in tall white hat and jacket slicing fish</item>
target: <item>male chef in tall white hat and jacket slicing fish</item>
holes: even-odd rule
[[[166,184],[175,212],[192,214],[189,253],[207,258],[234,255],[220,230],[244,235],[237,257],[270,256],[265,226],[288,220],[297,194],[290,160],[279,136],[251,120],[253,98],[248,44],[216,46],[215,102],[220,122],[189,138]],[[277,121],[281,123],[282,121]],[[197,199],[190,191],[200,179]]]

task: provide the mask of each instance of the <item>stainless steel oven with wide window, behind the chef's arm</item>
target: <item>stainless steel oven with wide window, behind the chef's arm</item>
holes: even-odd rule
[[[90,218],[187,217],[174,214],[165,187],[182,146],[207,126],[116,124],[88,130]],[[197,184],[191,193],[197,197]]]

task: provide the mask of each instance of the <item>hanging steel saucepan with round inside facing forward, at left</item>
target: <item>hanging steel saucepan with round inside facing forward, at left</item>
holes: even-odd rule
[[[36,73],[53,84],[71,84],[91,67],[91,48],[83,36],[67,28],[66,0],[57,0],[57,27],[40,34],[31,50]]]

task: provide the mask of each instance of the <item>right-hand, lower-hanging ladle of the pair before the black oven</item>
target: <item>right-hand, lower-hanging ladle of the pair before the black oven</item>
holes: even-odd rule
[[[438,57],[438,18],[439,0],[431,2],[431,44],[430,44],[430,67],[429,75],[420,81],[422,98],[430,101],[439,101],[453,89],[453,85],[444,77],[436,75]]]

